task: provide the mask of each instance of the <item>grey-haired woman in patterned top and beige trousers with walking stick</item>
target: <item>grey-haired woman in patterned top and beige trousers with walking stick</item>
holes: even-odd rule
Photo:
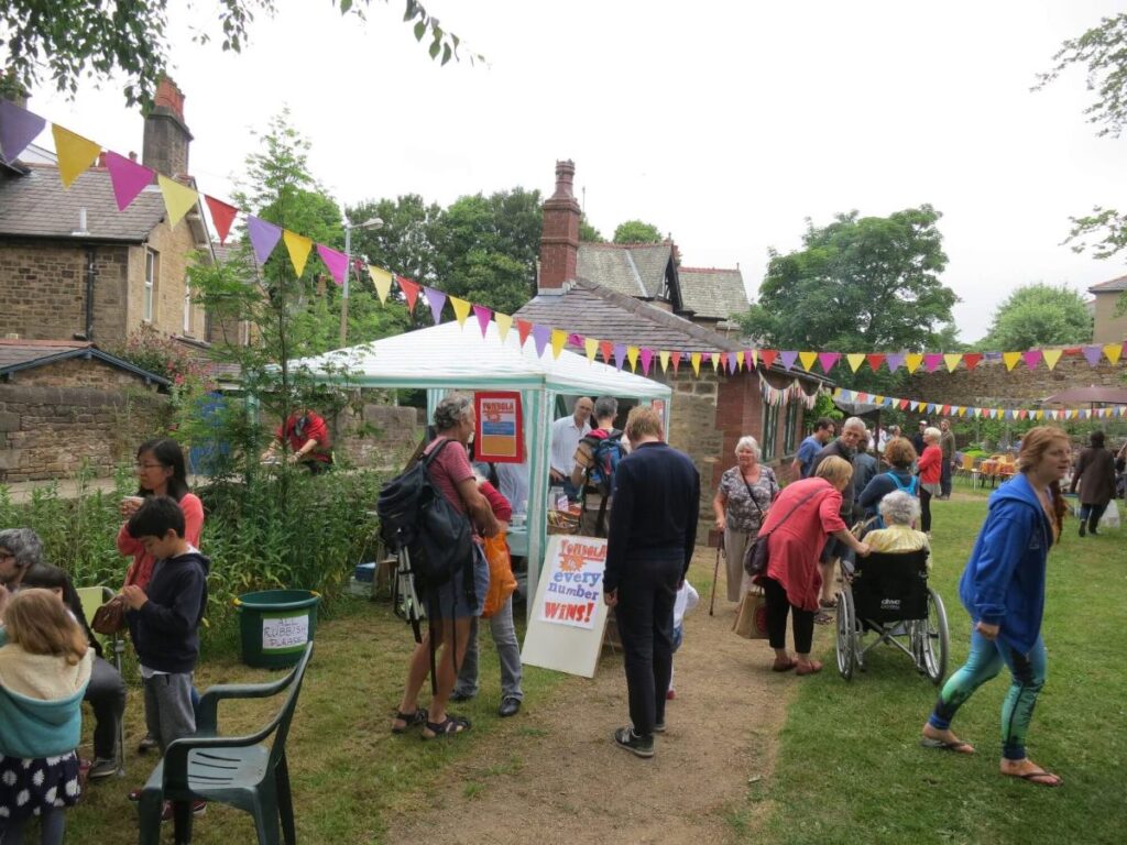
[[[779,497],[779,481],[770,466],[760,463],[760,444],[751,435],[736,442],[736,465],[720,477],[712,499],[716,527],[724,532],[728,558],[728,601],[744,595],[744,552]]]

